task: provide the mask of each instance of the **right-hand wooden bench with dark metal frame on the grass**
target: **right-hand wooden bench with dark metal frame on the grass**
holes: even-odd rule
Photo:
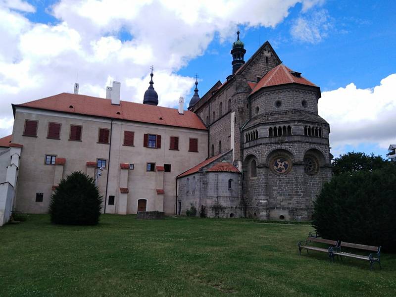
[[[354,254],[354,253],[343,251],[342,250],[343,247],[367,250],[367,251],[374,251],[374,252],[365,256],[365,255],[359,255],[359,254]],[[329,254],[330,254],[330,257],[333,259],[333,261],[334,261],[334,256],[337,256],[337,257],[340,256],[341,261],[343,260],[343,256],[344,256],[344,257],[350,257],[350,258],[370,261],[370,270],[373,269],[373,264],[375,262],[377,262],[380,265],[380,269],[382,269],[381,262],[380,262],[381,247],[373,247],[373,246],[365,246],[365,245],[341,242],[341,244],[339,246],[330,247]]]

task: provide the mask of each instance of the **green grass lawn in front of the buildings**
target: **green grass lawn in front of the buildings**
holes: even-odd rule
[[[0,296],[396,296],[396,255],[375,264],[298,256],[309,225],[102,215],[95,227],[49,215],[0,228]]]

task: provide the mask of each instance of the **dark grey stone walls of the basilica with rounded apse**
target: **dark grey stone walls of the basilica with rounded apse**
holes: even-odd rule
[[[205,205],[210,217],[232,213],[262,220],[311,219],[313,201],[332,175],[330,127],[318,115],[319,87],[304,83],[299,73],[288,69],[285,75],[298,79],[253,92],[280,64],[266,42],[227,82],[217,82],[190,108],[209,129],[209,156],[219,153],[221,142],[222,151],[232,149],[227,156],[242,175],[233,193],[224,188],[231,173],[204,168],[189,181],[179,179],[182,213],[191,205],[197,210]],[[214,202],[221,206],[216,208]],[[224,211],[219,212],[221,207]]]

